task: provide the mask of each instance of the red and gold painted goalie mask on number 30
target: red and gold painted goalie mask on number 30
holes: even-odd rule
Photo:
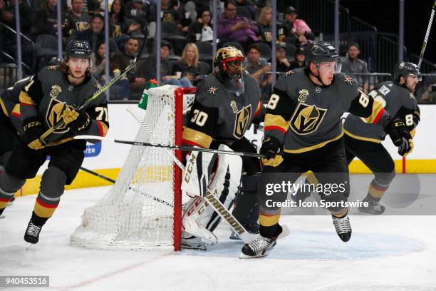
[[[214,58],[214,73],[231,93],[244,93],[244,60],[242,51],[234,46],[219,48]]]

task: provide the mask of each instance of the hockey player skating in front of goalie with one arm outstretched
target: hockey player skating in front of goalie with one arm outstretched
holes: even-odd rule
[[[381,103],[358,91],[353,78],[340,73],[341,60],[333,46],[323,41],[311,44],[306,61],[307,68],[289,71],[279,78],[266,106],[260,150],[266,155],[262,158],[262,175],[266,178],[268,173],[285,172],[294,183],[301,173],[312,170],[321,184],[345,185],[343,191],[321,193],[321,198],[338,203],[328,210],[336,233],[346,242],[351,238],[351,225],[348,208],[341,206],[349,193],[341,116],[351,112],[368,123],[380,124],[396,146],[403,143],[403,138],[410,141],[411,136],[402,121],[390,118]],[[267,255],[281,233],[280,208],[267,207],[266,194],[259,195],[261,236],[242,247],[241,258]]]

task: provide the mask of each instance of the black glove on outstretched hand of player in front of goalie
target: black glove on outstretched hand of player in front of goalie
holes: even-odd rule
[[[390,139],[395,146],[398,146],[398,153],[405,157],[413,150],[412,135],[405,127],[400,118],[393,118],[386,124],[385,132],[388,133]]]

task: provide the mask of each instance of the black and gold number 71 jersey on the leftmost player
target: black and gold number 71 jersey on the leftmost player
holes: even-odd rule
[[[58,66],[48,66],[32,76],[20,93],[21,119],[38,117],[44,128],[52,128],[61,121],[61,112],[66,103],[68,106],[80,106],[86,99],[93,96],[100,84],[93,77],[85,77],[78,86],[68,82],[66,73]],[[93,120],[90,129],[83,134],[105,136],[109,128],[108,107],[104,94],[95,98],[83,110]],[[73,133],[68,127],[59,128],[48,136],[48,146],[70,141]]]

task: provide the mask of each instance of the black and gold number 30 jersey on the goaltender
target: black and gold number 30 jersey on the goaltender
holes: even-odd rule
[[[209,148],[212,141],[234,143],[244,136],[251,123],[263,121],[265,108],[259,85],[244,74],[244,93],[229,93],[210,74],[199,84],[190,116],[183,130],[183,142]]]

